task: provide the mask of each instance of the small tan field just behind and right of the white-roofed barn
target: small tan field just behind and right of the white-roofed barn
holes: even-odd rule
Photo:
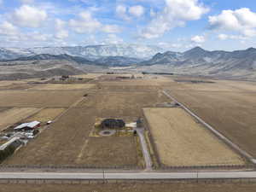
[[[35,115],[32,115],[32,117],[26,119],[26,121],[38,120],[40,122],[47,122],[49,120],[55,119],[64,110],[66,110],[66,108],[44,108]]]

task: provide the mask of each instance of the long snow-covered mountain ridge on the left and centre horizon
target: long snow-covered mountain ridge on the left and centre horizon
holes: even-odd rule
[[[91,61],[102,56],[124,56],[130,58],[149,59],[152,55],[162,52],[157,46],[138,44],[104,44],[76,47],[38,47],[30,49],[0,48],[0,60],[17,59],[31,55],[72,55],[80,56]]]

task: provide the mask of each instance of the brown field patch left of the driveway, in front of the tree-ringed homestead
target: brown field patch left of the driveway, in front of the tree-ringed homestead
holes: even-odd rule
[[[90,137],[76,162],[91,166],[136,166],[136,148],[135,137]]]

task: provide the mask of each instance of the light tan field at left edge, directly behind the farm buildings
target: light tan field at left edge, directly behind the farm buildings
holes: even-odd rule
[[[10,108],[0,113],[0,131],[38,112],[41,108]]]

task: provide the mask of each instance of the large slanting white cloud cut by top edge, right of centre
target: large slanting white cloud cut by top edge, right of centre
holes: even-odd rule
[[[174,27],[184,26],[188,20],[201,19],[208,11],[198,0],[166,0],[165,8],[140,32],[140,37],[159,38]]]

